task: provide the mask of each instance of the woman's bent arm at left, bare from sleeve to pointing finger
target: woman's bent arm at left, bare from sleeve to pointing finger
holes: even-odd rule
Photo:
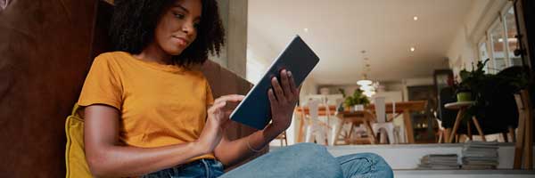
[[[84,142],[86,159],[92,174],[125,177],[149,174],[184,164],[187,160],[211,153],[223,135],[226,124],[223,108],[227,101],[241,101],[243,96],[226,95],[208,109],[206,124],[195,142],[159,148],[136,148],[119,144],[119,110],[107,105],[85,109]]]

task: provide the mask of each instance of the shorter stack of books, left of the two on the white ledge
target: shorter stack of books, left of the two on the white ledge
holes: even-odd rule
[[[419,169],[458,169],[457,154],[431,154],[420,159]]]

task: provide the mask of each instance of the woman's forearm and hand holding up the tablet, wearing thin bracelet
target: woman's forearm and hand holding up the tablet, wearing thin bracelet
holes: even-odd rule
[[[281,71],[282,86],[274,77],[271,80],[273,89],[268,91],[271,107],[272,123],[264,130],[257,131],[247,137],[228,141],[224,136],[214,150],[216,158],[225,166],[233,166],[245,158],[250,158],[256,151],[262,150],[277,135],[281,134],[292,123],[292,114],[299,99],[300,88],[293,82],[292,72]]]

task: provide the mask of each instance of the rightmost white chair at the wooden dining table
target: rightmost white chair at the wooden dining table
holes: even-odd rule
[[[386,122],[386,107],[384,100],[384,97],[375,97],[374,99],[376,123],[372,124],[372,130],[374,130],[375,134],[381,132],[380,143],[386,143],[386,138],[383,134],[386,132],[388,140],[392,144],[395,142],[394,124],[392,122]]]

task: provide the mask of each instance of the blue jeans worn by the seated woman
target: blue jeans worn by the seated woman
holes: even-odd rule
[[[218,161],[213,165],[194,166],[196,171],[173,172],[175,174],[161,174],[160,177],[214,177],[221,178],[264,178],[264,177],[343,177],[343,178],[372,178],[393,177],[391,167],[383,158],[374,153],[358,153],[338,158],[327,152],[324,146],[314,143],[300,143],[274,150],[268,154],[251,160],[234,170],[223,173],[223,166]],[[210,167],[211,168],[206,168]],[[189,166],[178,166],[189,167]],[[174,168],[170,168],[174,169]],[[169,173],[169,169],[160,172]],[[157,173],[160,173],[157,172]],[[157,174],[154,173],[154,174]],[[157,176],[158,177],[158,176]]]

